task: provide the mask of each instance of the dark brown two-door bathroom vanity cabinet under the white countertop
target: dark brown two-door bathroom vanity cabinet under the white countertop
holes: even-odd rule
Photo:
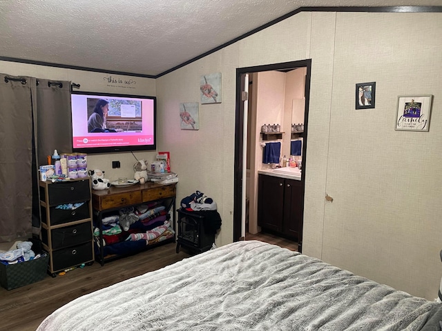
[[[258,225],[300,240],[304,193],[302,181],[258,175]]]

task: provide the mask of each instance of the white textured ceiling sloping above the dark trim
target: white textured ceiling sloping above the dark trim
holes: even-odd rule
[[[442,0],[0,0],[0,59],[156,76],[300,7]]]

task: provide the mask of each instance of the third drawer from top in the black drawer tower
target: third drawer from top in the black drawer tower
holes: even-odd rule
[[[92,240],[92,228],[90,222],[52,229],[50,234],[52,250],[78,245],[78,243]]]

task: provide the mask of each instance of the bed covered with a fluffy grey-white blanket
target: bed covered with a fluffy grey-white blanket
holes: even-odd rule
[[[79,297],[37,331],[441,330],[441,320],[442,303],[240,241]]]

